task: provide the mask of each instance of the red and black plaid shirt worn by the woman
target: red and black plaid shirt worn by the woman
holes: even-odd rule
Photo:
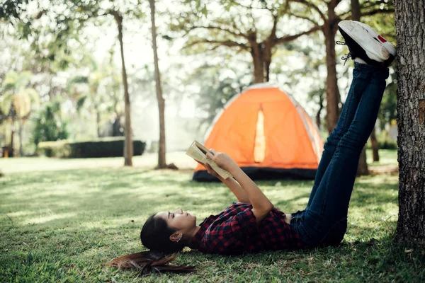
[[[285,222],[285,214],[273,208],[256,226],[252,205],[236,203],[200,224],[192,249],[202,253],[240,254],[261,250],[300,248],[300,237]]]

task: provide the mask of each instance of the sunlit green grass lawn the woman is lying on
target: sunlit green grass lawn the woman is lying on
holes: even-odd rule
[[[395,151],[385,156],[385,164],[397,163]],[[193,183],[187,169],[152,171],[145,159],[154,162],[152,156],[141,156],[135,158],[137,167],[122,168],[122,158],[0,158],[6,173],[0,178],[0,282],[425,280],[425,250],[392,242],[397,175],[356,180],[348,231],[337,248],[238,257],[185,250],[176,264],[196,265],[191,275],[139,277],[135,271],[104,267],[117,256],[142,250],[140,228],[150,214],[183,207],[200,221],[234,201],[220,184]],[[187,159],[181,154],[168,159],[181,160]],[[290,213],[305,206],[312,181],[276,183],[259,183],[276,207]]]

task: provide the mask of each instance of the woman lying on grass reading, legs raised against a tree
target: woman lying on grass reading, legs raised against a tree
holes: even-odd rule
[[[202,253],[242,254],[262,250],[314,248],[339,245],[347,228],[347,212],[358,159],[375,126],[395,47],[368,25],[342,21],[339,30],[354,59],[353,81],[338,124],[324,145],[314,185],[304,210],[284,214],[227,156],[213,149],[208,158],[234,178],[223,180],[238,203],[211,215],[199,225],[196,216],[178,209],[147,219],[140,233],[143,246],[161,253],[175,253],[188,246]],[[162,256],[137,253],[111,262],[120,267],[156,265],[165,270]],[[181,267],[169,267],[179,270]],[[188,268],[191,270],[191,267]],[[183,271],[183,270],[180,270]]]

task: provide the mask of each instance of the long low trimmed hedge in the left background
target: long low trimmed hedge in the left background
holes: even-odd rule
[[[47,157],[116,157],[123,156],[124,137],[107,137],[91,141],[43,141],[38,144],[38,154]],[[133,140],[134,155],[142,155],[145,141]]]

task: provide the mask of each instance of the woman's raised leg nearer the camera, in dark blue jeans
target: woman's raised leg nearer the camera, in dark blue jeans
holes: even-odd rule
[[[385,79],[388,69],[372,67],[356,63],[359,76],[368,78],[363,81],[363,96],[353,117],[348,131],[336,145],[334,156],[319,183],[314,197],[303,214],[302,226],[310,238],[310,245],[317,246],[327,241],[329,232],[333,233],[332,241],[341,241],[346,228],[346,216],[351,192],[358,166],[358,158],[365,142],[368,140],[376,118],[382,95],[385,90]],[[339,231],[334,231],[338,226]],[[344,230],[344,231],[343,231]]]

